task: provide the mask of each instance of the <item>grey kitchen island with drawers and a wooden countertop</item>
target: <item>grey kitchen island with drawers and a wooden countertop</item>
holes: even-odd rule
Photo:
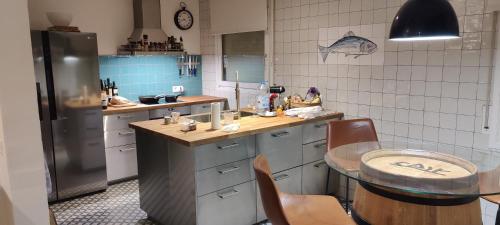
[[[163,225],[250,225],[266,219],[253,173],[264,154],[284,192],[324,194],[326,128],[343,113],[314,119],[242,117],[227,133],[198,123],[182,132],[162,120],[134,122],[140,205]]]

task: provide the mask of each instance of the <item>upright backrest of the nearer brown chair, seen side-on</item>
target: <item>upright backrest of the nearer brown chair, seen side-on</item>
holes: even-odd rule
[[[267,159],[261,154],[255,158],[253,163],[255,176],[260,188],[260,197],[267,218],[273,225],[289,225],[285,211],[281,205],[280,191],[271,177],[271,169]]]

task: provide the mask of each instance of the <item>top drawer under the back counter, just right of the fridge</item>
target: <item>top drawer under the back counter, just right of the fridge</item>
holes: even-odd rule
[[[121,130],[128,128],[132,122],[145,121],[149,119],[148,111],[136,113],[122,113],[104,116],[104,131]]]

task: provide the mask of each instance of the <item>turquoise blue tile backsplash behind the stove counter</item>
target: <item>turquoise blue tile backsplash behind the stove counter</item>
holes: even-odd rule
[[[202,94],[201,68],[196,76],[179,77],[176,56],[100,56],[99,67],[101,79],[115,81],[120,96],[132,101],[141,95],[173,94],[174,85],[184,86],[185,96]]]

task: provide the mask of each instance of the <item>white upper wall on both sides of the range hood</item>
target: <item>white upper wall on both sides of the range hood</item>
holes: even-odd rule
[[[185,0],[193,13],[194,24],[188,31],[177,29],[174,14],[180,0],[161,0],[162,27],[167,35],[184,38],[190,54],[200,53],[199,3]],[[31,29],[47,29],[52,26],[46,12],[62,11],[73,14],[71,26],[82,32],[97,33],[99,55],[114,55],[118,46],[127,43],[134,27],[132,0],[29,0]]]

